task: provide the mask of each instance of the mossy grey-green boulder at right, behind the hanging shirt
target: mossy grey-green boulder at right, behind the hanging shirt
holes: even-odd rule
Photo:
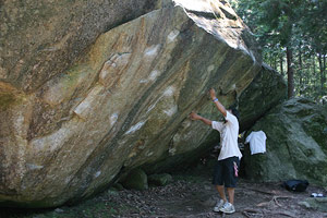
[[[267,135],[267,153],[250,156],[247,147],[244,160],[249,179],[302,179],[326,185],[327,110],[323,106],[304,98],[288,100],[251,129],[259,130]]]

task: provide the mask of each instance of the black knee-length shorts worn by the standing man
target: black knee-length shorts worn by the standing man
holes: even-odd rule
[[[238,183],[238,177],[234,170],[234,162],[240,169],[239,157],[229,157],[216,162],[214,169],[213,184],[225,185],[226,187],[235,187]]]

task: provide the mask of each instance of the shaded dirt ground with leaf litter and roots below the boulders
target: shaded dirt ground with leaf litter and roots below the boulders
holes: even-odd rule
[[[241,179],[235,190],[232,215],[214,213],[218,194],[206,174],[173,174],[173,182],[146,191],[110,189],[75,206],[48,210],[17,210],[1,208],[5,218],[101,218],[101,217],[227,217],[227,218],[324,218],[327,213],[306,209],[299,203],[311,193],[327,194],[323,187],[310,185],[305,192],[292,193],[280,183],[251,183]]]

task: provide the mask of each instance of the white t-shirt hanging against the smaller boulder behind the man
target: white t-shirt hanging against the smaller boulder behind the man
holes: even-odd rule
[[[250,143],[251,155],[266,152],[267,136],[263,131],[252,132],[245,143]]]

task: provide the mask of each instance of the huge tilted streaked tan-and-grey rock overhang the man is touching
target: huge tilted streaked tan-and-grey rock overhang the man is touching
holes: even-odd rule
[[[73,66],[0,112],[1,202],[74,202],[122,169],[205,141],[208,130],[187,114],[195,109],[217,118],[208,88],[226,105],[234,102],[261,61],[242,40],[245,26],[228,40],[228,32],[215,32],[223,19],[241,29],[238,17],[206,19],[183,8],[155,10],[101,34]]]

